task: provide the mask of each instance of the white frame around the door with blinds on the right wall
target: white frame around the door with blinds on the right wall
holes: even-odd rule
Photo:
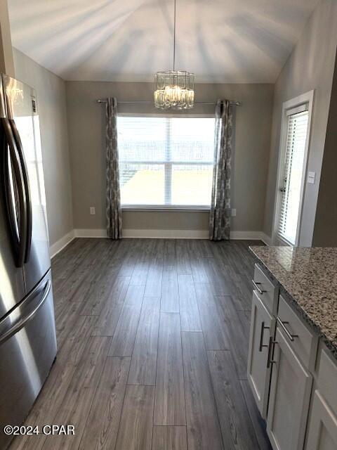
[[[286,101],[282,105],[282,122],[281,122],[281,133],[279,139],[279,158],[277,163],[277,183],[275,188],[275,202],[274,202],[274,212],[273,212],[273,224],[272,224],[272,245],[288,245],[290,247],[297,247],[300,245],[300,230],[302,225],[302,216],[303,216],[303,203],[304,203],[304,195],[305,195],[305,181],[307,179],[308,174],[308,156],[310,151],[310,137],[311,137],[311,122],[312,122],[312,106],[314,102],[314,94],[315,91],[308,91],[305,94],[301,94],[298,97],[291,98],[291,100]],[[296,230],[296,239],[295,243],[289,242],[284,237],[279,236],[278,226],[279,226],[279,210],[282,202],[282,192],[280,192],[280,188],[283,186],[282,184],[282,174],[284,167],[284,158],[286,155],[286,139],[288,134],[288,117],[289,111],[295,110],[298,108],[302,108],[303,105],[308,104],[308,129],[307,129],[307,137],[305,141],[305,151],[303,158],[303,174],[300,186],[300,204],[298,207],[298,222],[297,222],[297,230]]]

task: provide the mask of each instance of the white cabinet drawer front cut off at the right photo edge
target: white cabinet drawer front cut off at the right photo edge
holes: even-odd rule
[[[319,355],[319,371],[317,384],[319,392],[333,409],[337,416],[337,363],[322,349]]]

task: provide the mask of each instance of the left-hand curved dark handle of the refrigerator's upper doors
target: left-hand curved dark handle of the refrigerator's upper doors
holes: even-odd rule
[[[3,171],[4,171],[4,192],[6,198],[6,208],[7,217],[9,222],[9,227],[11,231],[11,239],[13,245],[13,251],[15,253],[15,265],[17,267],[22,267],[25,260],[25,250],[27,248],[27,202],[25,195],[25,184],[23,181],[22,167],[20,165],[18,150],[15,146],[15,140],[13,136],[13,131],[11,124],[7,117],[1,117],[1,124],[4,129],[4,134],[6,136],[6,141],[4,141],[4,159],[3,159]],[[8,161],[8,152],[6,148],[6,143],[9,148],[10,161]],[[9,174],[9,162],[13,167],[15,181],[18,186],[18,203],[20,209],[20,220],[18,224],[18,232],[15,219],[15,208],[13,207],[13,202],[15,198],[11,195],[10,186],[10,174]]]

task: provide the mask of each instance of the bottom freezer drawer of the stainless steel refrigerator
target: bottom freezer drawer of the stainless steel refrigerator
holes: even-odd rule
[[[21,425],[56,356],[51,272],[0,321],[0,449],[11,436],[4,425]]]

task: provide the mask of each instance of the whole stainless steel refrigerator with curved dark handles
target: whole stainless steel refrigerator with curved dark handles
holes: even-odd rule
[[[0,79],[0,449],[56,356],[39,110],[34,89]]]

